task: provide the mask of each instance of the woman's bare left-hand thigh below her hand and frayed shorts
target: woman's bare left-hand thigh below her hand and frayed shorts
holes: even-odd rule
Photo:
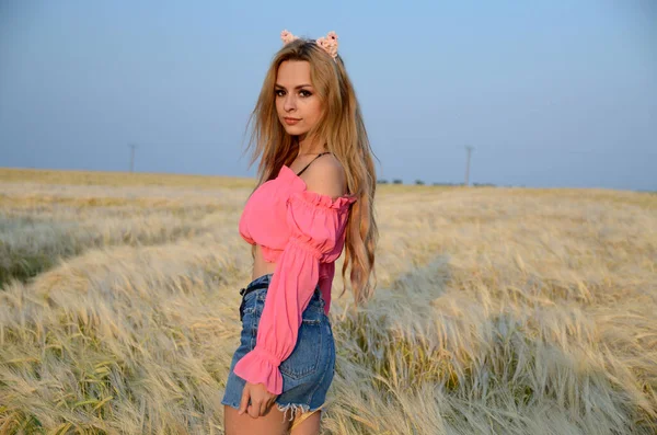
[[[290,422],[285,419],[283,412],[278,411],[276,404],[272,405],[266,415],[257,419],[246,413],[240,415],[234,408],[224,405],[223,428],[226,435],[285,435],[289,433]]]

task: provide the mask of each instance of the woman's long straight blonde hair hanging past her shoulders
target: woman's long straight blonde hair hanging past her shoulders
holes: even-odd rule
[[[357,197],[351,205],[345,233],[343,278],[349,270],[354,300],[369,299],[376,285],[374,249],[379,231],[374,220],[377,174],[372,150],[362,122],[360,105],[339,55],[334,60],[313,39],[299,38],[286,44],[275,56],[265,77],[249,125],[253,126],[247,149],[253,148],[250,164],[260,158],[257,185],[276,178],[283,165],[290,165],[298,142],[287,134],[276,113],[275,84],[278,67],[286,60],[306,60],[310,78],[324,111],[308,137],[323,140],[342,163],[348,192]],[[347,279],[344,279],[346,288]]]

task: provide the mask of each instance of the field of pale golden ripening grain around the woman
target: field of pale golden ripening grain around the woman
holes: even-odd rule
[[[0,433],[223,433],[253,183],[1,169]],[[657,433],[657,195],[382,185],[377,218],[323,434]]]

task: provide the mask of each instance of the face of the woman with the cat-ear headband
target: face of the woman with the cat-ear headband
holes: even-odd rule
[[[292,136],[306,135],[319,122],[322,105],[312,82],[310,64],[286,60],[276,75],[276,112],[285,130]]]

